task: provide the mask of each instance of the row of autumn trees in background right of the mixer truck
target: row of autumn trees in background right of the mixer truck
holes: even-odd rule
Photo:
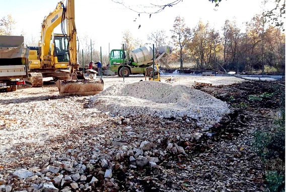
[[[190,29],[184,19],[176,17],[173,25],[174,44],[172,59],[196,63],[199,70],[219,70],[284,73],[285,35],[279,28],[266,25],[264,17],[256,15],[245,25],[245,31],[236,21],[226,20],[222,29],[216,30],[199,21]]]

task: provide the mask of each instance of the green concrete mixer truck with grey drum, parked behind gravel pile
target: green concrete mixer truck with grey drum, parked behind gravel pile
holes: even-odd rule
[[[109,55],[110,70],[119,77],[123,77],[124,61],[124,77],[128,77],[130,74],[145,75],[145,73],[149,77],[151,72],[153,72],[153,55],[155,64],[160,61],[164,66],[170,68],[163,58],[171,52],[172,47],[168,45],[154,48],[154,52],[151,46],[143,46],[131,50],[129,54],[123,49],[112,49]],[[126,55],[128,56],[127,58]]]

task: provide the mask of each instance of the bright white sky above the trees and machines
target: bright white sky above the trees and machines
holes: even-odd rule
[[[52,12],[59,0],[0,0],[0,18],[11,14],[16,21],[14,35],[40,39],[41,23],[45,16]],[[165,5],[171,0],[124,0],[125,5],[137,11],[150,11],[145,7],[151,3]],[[65,2],[64,2],[65,3]],[[75,0],[75,20],[79,37],[88,36],[95,42],[93,49],[107,53],[111,49],[120,48],[123,32],[129,30],[134,38],[147,42],[148,34],[156,30],[165,30],[170,37],[170,30],[176,16],[185,19],[189,28],[195,27],[199,20],[209,22],[210,26],[220,30],[226,19],[236,20],[243,30],[243,22],[250,21],[255,14],[261,13],[265,7],[262,0],[223,0],[219,7],[208,0],[184,0],[178,5],[167,7],[157,14],[140,14],[116,4],[111,0]],[[151,10],[154,11],[154,10]],[[134,21],[135,20],[135,21]],[[138,26],[141,27],[138,29]],[[56,32],[60,32],[59,28]],[[24,38],[26,38],[24,37]],[[81,39],[80,39],[81,49]]]

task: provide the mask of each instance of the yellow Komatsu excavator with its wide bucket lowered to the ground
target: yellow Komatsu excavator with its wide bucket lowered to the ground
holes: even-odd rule
[[[62,34],[53,33],[58,25]],[[43,20],[39,47],[29,48],[30,73],[26,81],[33,87],[42,86],[43,77],[52,77],[60,95],[93,95],[103,91],[102,79],[87,79],[79,71],[75,0],[57,4]]]

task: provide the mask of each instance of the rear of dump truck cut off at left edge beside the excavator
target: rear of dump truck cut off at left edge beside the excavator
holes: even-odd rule
[[[23,36],[0,35],[0,89],[16,91],[28,77],[29,48]]]

